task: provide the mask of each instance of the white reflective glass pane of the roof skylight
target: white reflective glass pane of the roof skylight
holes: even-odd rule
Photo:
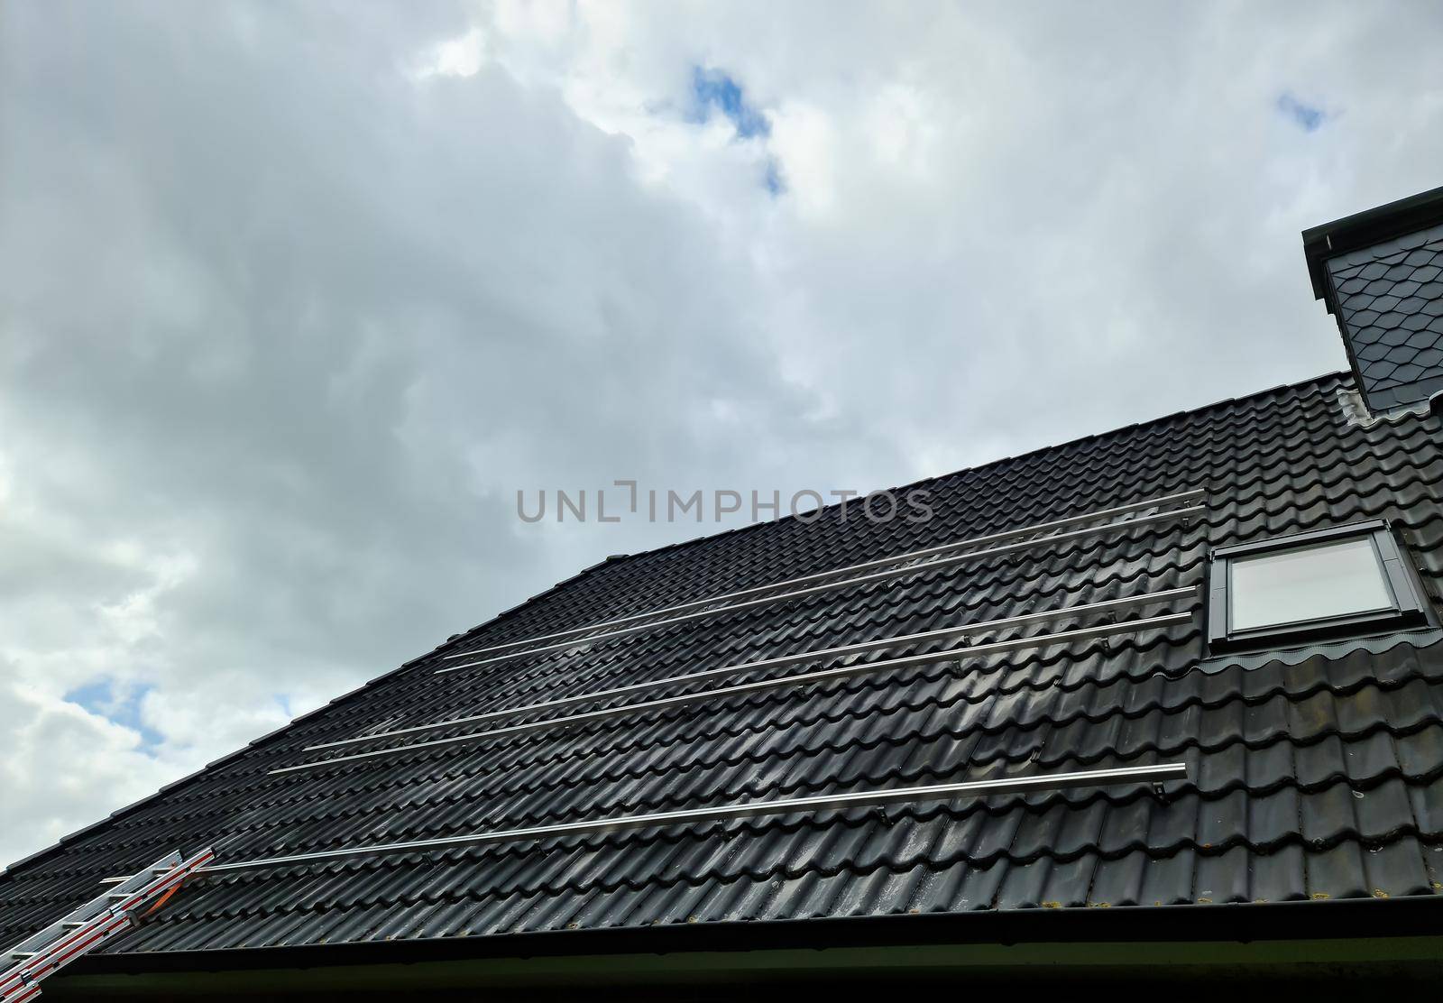
[[[1232,560],[1234,631],[1391,609],[1392,593],[1368,538]]]

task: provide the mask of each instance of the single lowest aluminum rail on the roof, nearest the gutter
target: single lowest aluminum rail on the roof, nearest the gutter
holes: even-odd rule
[[[343,860],[346,857],[374,856],[384,853],[420,853],[431,850],[455,850],[463,846],[485,846],[488,843],[515,843],[522,840],[545,840],[561,836],[592,836],[599,833],[620,833],[632,828],[657,825],[683,825],[691,823],[732,821],[756,818],[759,815],[782,815],[794,811],[843,811],[846,808],[870,808],[887,804],[916,801],[945,801],[961,797],[986,797],[990,794],[1030,794],[1033,791],[1065,791],[1078,787],[1110,787],[1114,784],[1160,784],[1163,781],[1186,779],[1188,765],[1182,762],[1154,766],[1121,766],[1114,769],[1087,769],[1075,774],[1043,774],[1013,776],[1000,781],[968,781],[962,784],[931,784],[926,787],[883,788],[880,791],[854,791],[851,794],[821,794],[808,798],[785,798],[778,801],[745,801],[742,804],[711,805],[704,808],[683,808],[649,815],[618,815],[576,823],[554,823],[530,825],[527,828],[502,828],[489,833],[446,836],[433,840],[410,843],[380,843],[374,846],[339,847],[316,853],[294,853],[284,857],[263,857],[260,860],[237,860],[234,863],[211,864],[202,875],[257,870],[261,867],[284,867],[290,864],[316,863],[320,860]]]

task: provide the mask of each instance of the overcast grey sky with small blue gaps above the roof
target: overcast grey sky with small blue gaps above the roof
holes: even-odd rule
[[[0,6],[0,863],[696,522],[1345,365],[1427,3]],[[595,514],[593,514],[595,515]],[[710,514],[709,514],[710,518]]]

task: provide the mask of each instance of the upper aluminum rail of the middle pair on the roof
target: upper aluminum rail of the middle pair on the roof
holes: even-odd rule
[[[1183,586],[1180,589],[1144,592],[1134,596],[1123,596],[1120,599],[1104,599],[1101,602],[1081,603],[1076,606],[1059,606],[1058,609],[1045,609],[1038,613],[1023,613],[1022,616],[1006,616],[993,621],[958,623],[957,626],[945,626],[937,631],[926,631],[922,634],[900,634],[887,638],[876,638],[873,641],[860,641],[857,644],[847,644],[837,648],[799,651],[792,655],[776,655],[775,658],[762,658],[750,662],[737,662],[734,665],[723,665],[722,668],[707,668],[700,673],[687,673],[685,675],[668,675],[665,678],[651,680],[646,683],[632,683],[629,686],[618,686],[610,690],[592,690],[589,693],[577,693],[570,697],[543,700],[540,703],[524,704],[521,707],[504,707],[501,710],[486,711],[485,714],[472,714],[469,717],[453,717],[444,722],[429,722],[426,724],[413,724],[410,727],[398,727],[390,732],[375,732],[374,735],[356,735],[349,739],[336,739],[335,742],[317,742],[316,745],[307,745],[304,750],[319,752],[322,749],[342,749],[352,745],[368,745],[371,742],[384,742],[387,739],[397,739],[405,735],[421,735],[424,732],[436,732],[444,727],[456,727],[459,724],[483,724],[488,722],[505,720],[506,717],[519,717],[521,714],[534,714],[538,711],[560,710],[561,707],[574,707],[576,704],[596,703],[599,700],[610,700],[613,697],[632,696],[636,693],[644,693],[646,690],[657,690],[665,686],[696,683],[698,680],[710,680],[719,675],[732,675],[734,673],[749,673],[749,671],[755,673],[766,668],[782,668],[785,665],[798,665],[801,662],[820,661],[827,658],[844,658],[847,655],[860,655],[867,651],[876,651],[879,648],[926,644],[929,641],[942,641],[957,636],[965,638],[973,634],[987,634],[991,631],[1003,631],[1016,626],[1029,626],[1032,623],[1045,623],[1048,621],[1058,621],[1068,616],[1115,613],[1123,609],[1131,609],[1133,606],[1165,603],[1165,602],[1172,602],[1175,599],[1183,599],[1186,596],[1196,596],[1196,595],[1198,595],[1196,586]]]

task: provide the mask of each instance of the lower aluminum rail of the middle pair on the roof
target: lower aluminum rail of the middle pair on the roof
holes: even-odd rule
[[[821,683],[825,680],[846,678],[848,675],[879,673],[889,668],[903,668],[906,665],[922,665],[926,662],[952,661],[957,658],[977,658],[983,655],[993,655],[1003,651],[1017,651],[1023,648],[1045,648],[1052,644],[1068,644],[1071,641],[1101,638],[1113,634],[1136,634],[1139,631],[1150,631],[1153,628],[1176,626],[1179,623],[1188,623],[1190,621],[1192,621],[1192,613],[1167,613],[1165,616],[1153,616],[1140,621],[1101,623],[1098,626],[1085,626],[1076,631],[1061,631],[1058,634],[1038,634],[1030,638],[1010,638],[1007,641],[993,641],[990,644],[965,645],[961,648],[949,648],[944,651],[929,651],[925,654],[905,655],[902,658],[887,658],[886,661],[861,662],[859,665],[843,665],[840,668],[825,668],[817,673],[781,675],[775,680],[755,680],[752,683],[737,683],[734,686],[724,686],[716,690],[683,693],[674,697],[644,700],[639,703],[622,704],[619,707],[602,707],[600,710],[589,710],[582,714],[567,714],[566,717],[547,717],[545,720],[540,722],[508,724],[506,727],[494,727],[485,732],[466,732],[465,735],[452,735],[443,739],[431,739],[430,742],[414,742],[411,745],[398,745],[392,749],[374,749],[371,752],[356,752],[349,756],[313,759],[309,762],[296,763],[293,766],[277,766],[276,769],[267,771],[267,774],[273,776],[280,774],[294,774],[303,769],[320,769],[322,766],[338,766],[343,763],[377,759],[380,756],[392,756],[403,752],[417,752],[420,749],[439,749],[447,745],[462,745],[466,742],[479,742],[482,739],[495,739],[508,735],[525,735],[527,732],[540,732],[543,729],[563,727],[567,724],[584,724],[589,722],[603,720],[606,717],[619,717],[622,714],[633,714],[649,710],[664,710],[667,707],[683,707],[685,704],[700,703],[703,700],[717,700],[722,697],[733,697],[743,693],[756,693],[759,690],[778,690],[788,686],[805,686],[810,683]]]

